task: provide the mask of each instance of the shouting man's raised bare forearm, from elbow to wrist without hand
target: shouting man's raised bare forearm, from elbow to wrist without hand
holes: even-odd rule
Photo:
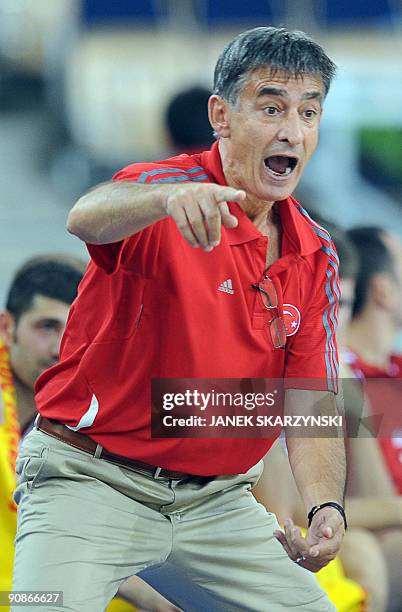
[[[117,242],[166,216],[168,185],[110,181],[83,195],[72,208],[67,229],[91,244]]]

